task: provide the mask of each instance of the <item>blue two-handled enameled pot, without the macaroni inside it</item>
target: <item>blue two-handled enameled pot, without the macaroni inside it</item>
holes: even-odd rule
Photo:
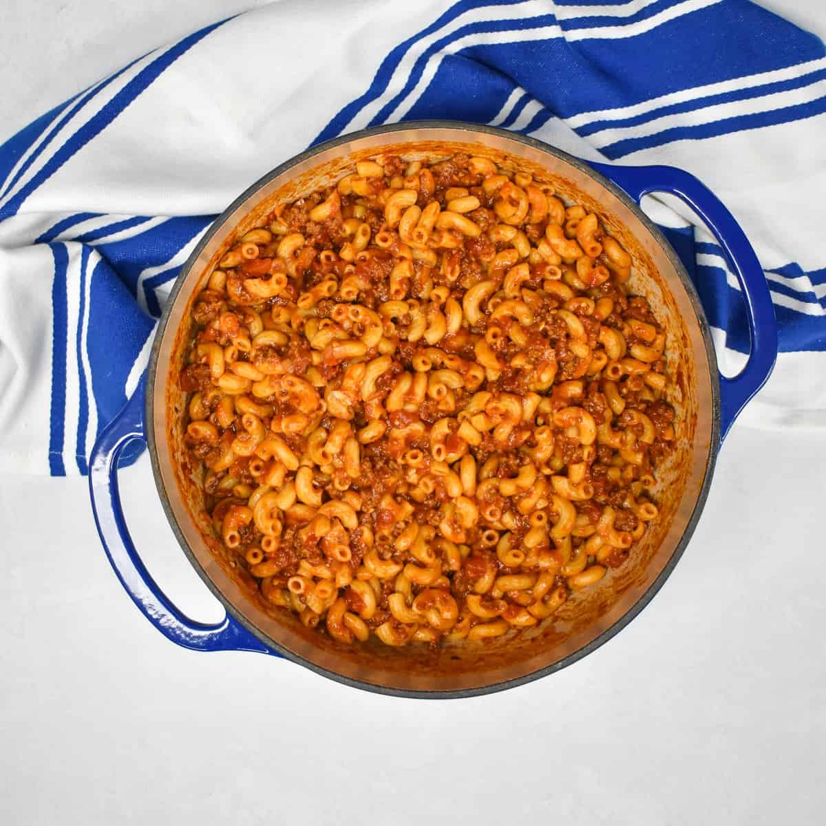
[[[214,537],[198,468],[183,444],[186,399],[178,387],[190,309],[211,265],[235,239],[281,202],[335,183],[355,161],[380,152],[437,159],[462,151],[553,183],[568,200],[596,211],[634,260],[630,292],[651,304],[666,331],[667,397],[677,412],[676,450],[658,468],[660,518],[628,562],[572,597],[542,624],[486,643],[388,648],[346,646],[304,628],[268,605],[243,567]],[[648,192],[670,192],[709,225],[740,282],[752,349],[737,377],[721,377],[709,327],[685,269],[638,208]],[[721,439],[767,380],[777,335],[762,268],[736,221],[696,178],[670,167],[585,164],[537,140],[501,129],[424,121],[346,135],[282,164],[250,187],[216,220],[184,265],[160,320],[146,376],[93,449],[89,487],[97,529],[122,585],[173,642],[204,651],[245,650],[287,657],[334,680],[385,694],[459,697],[501,691],[556,672],[628,624],[662,586],[686,547],[705,503]],[[190,562],[225,606],[217,624],[183,615],[154,583],[132,543],[120,506],[117,461],[133,440],[146,442],[169,524]]]

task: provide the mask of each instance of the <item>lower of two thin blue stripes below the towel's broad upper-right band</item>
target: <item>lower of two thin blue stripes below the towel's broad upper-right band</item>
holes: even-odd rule
[[[675,126],[654,135],[618,140],[613,144],[601,147],[600,151],[607,158],[618,159],[632,152],[670,144],[675,140],[705,140],[705,138],[715,138],[719,135],[729,135],[732,132],[743,132],[762,129],[764,126],[778,126],[781,123],[803,121],[808,117],[822,115],[824,112],[826,112],[826,96],[819,97],[816,101],[809,103],[799,103],[796,106],[774,109],[771,112],[752,112],[748,115],[727,117],[721,121],[702,123],[696,126]]]

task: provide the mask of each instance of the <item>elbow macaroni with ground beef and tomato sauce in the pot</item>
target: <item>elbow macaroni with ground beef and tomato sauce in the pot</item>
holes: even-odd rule
[[[216,534],[341,643],[479,641],[634,553],[665,336],[599,217],[489,159],[356,164],[211,271],[181,373]]]

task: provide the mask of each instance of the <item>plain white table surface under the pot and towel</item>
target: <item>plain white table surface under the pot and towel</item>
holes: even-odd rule
[[[0,131],[251,5],[3,0]],[[177,648],[116,582],[85,480],[0,474],[0,824],[823,823],[824,464],[826,434],[735,426],[642,615],[555,676],[443,702]],[[121,479],[150,570],[219,619],[147,459]]]

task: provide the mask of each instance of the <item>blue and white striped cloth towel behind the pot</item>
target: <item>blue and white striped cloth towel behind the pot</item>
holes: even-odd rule
[[[0,467],[83,473],[164,297],[238,192],[312,143],[420,118],[584,159],[674,164],[742,223],[781,356],[749,425],[826,426],[826,50],[747,0],[285,0],[135,60],[0,147]],[[723,363],[738,287],[691,213],[650,207]]]

